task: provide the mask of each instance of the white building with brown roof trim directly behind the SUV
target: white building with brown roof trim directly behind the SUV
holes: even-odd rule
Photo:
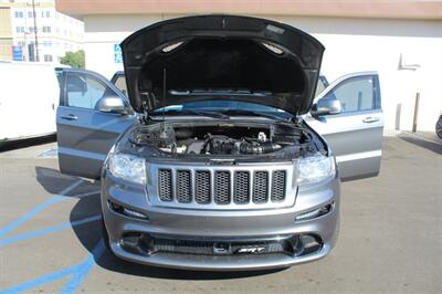
[[[108,77],[123,70],[116,44],[140,28],[186,14],[249,14],[315,35],[326,46],[329,81],[378,71],[387,130],[412,128],[417,93],[419,130],[434,130],[442,112],[441,0],[59,0],[57,8],[85,22],[86,67]]]

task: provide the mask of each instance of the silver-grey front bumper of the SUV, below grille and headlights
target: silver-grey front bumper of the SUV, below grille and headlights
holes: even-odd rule
[[[116,212],[109,202],[135,210],[148,217],[138,219]],[[309,220],[295,221],[296,216],[334,203],[328,213]],[[122,185],[112,176],[103,175],[102,207],[109,245],[114,254],[141,264],[208,271],[241,271],[287,267],[324,258],[336,243],[339,224],[338,176],[308,189],[299,188],[295,206],[269,210],[187,210],[154,207],[146,192]],[[177,240],[206,240],[231,242],[232,240],[264,240],[278,237],[315,235],[320,242],[318,250],[303,255],[269,254],[182,254],[157,252],[140,254],[127,250],[124,237],[128,233],[168,235]]]

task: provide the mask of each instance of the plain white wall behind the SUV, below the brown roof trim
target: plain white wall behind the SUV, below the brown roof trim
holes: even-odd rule
[[[86,67],[108,77],[123,64],[114,62],[114,44],[156,21],[178,15],[86,15]],[[421,103],[418,129],[433,130],[442,112],[442,22],[350,18],[265,18],[315,35],[326,46],[322,71],[329,81],[350,72],[378,71],[386,129],[410,130],[415,93]],[[400,70],[419,64],[417,71]]]

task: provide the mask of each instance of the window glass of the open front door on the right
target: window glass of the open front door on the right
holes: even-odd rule
[[[343,113],[380,108],[373,76],[358,76],[338,84],[324,99],[338,99]]]

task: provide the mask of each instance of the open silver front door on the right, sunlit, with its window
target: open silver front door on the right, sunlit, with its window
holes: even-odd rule
[[[349,180],[377,176],[380,169],[383,115],[377,73],[356,73],[338,78],[318,97],[338,99],[338,115],[305,120],[329,143],[338,162],[340,178]]]

